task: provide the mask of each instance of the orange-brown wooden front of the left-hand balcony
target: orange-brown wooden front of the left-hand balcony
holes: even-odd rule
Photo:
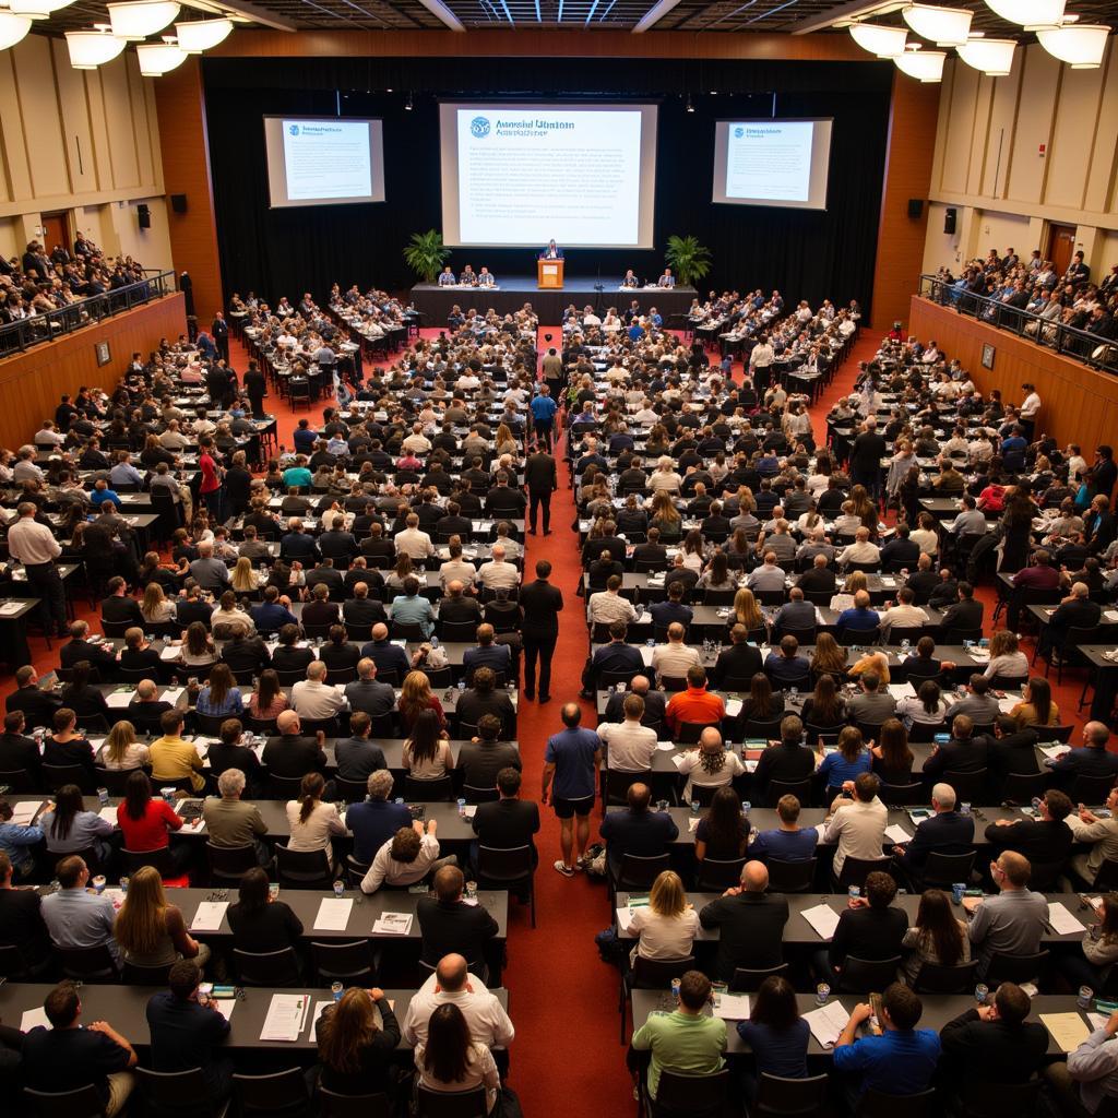
[[[111,390],[133,352],[145,357],[164,335],[186,330],[182,296],[168,295],[104,322],[0,361],[0,445],[22,446],[54,418],[58,399],[83,385]],[[98,368],[94,344],[108,342],[112,361]]]

